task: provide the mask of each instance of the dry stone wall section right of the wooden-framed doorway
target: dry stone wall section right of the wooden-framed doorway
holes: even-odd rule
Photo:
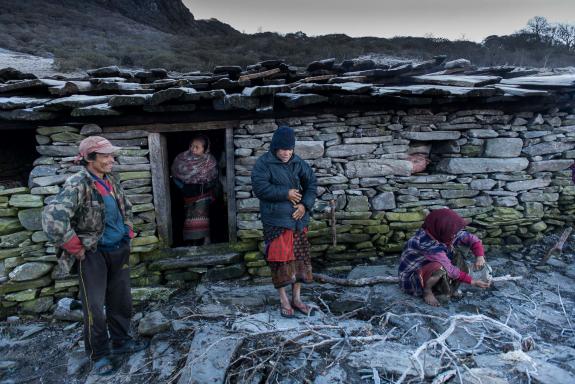
[[[572,221],[572,109],[393,110],[242,122],[234,140],[240,241],[262,238],[250,172],[282,124],[296,130],[296,153],[318,177],[309,237],[315,264],[329,271],[400,252],[435,208],[470,219],[487,246],[511,249]],[[413,174],[413,153],[430,159],[425,172]],[[327,213],[332,199],[336,246]],[[245,261],[253,276],[269,276],[261,242]]]

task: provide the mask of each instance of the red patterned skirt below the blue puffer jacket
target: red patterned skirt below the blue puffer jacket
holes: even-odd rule
[[[264,228],[266,260],[275,288],[294,283],[312,283],[307,228],[302,232],[285,228]]]

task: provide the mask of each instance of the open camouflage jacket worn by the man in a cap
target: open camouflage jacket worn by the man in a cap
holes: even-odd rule
[[[107,178],[124,223],[132,228],[132,205],[119,181],[112,175]],[[56,247],[77,235],[85,249],[94,250],[104,233],[104,214],[104,199],[90,173],[83,169],[66,180],[64,189],[44,207],[42,228]]]

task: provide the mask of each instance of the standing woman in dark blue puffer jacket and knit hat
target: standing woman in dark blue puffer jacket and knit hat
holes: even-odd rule
[[[269,152],[252,170],[252,187],[260,199],[266,260],[281,301],[280,313],[294,317],[294,309],[310,315],[312,308],[301,301],[301,283],[313,281],[307,225],[313,208],[317,181],[311,167],[294,154],[295,132],[278,128]],[[290,301],[286,287],[292,286]]]

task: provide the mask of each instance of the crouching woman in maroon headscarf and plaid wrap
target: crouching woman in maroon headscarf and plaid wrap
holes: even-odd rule
[[[457,246],[467,246],[475,255],[475,269],[485,265],[483,244],[465,231],[466,222],[455,211],[444,208],[431,212],[422,227],[409,239],[399,261],[400,288],[411,295],[423,296],[429,305],[439,306],[435,294],[453,295],[461,282],[479,288],[489,283],[469,276]]]

